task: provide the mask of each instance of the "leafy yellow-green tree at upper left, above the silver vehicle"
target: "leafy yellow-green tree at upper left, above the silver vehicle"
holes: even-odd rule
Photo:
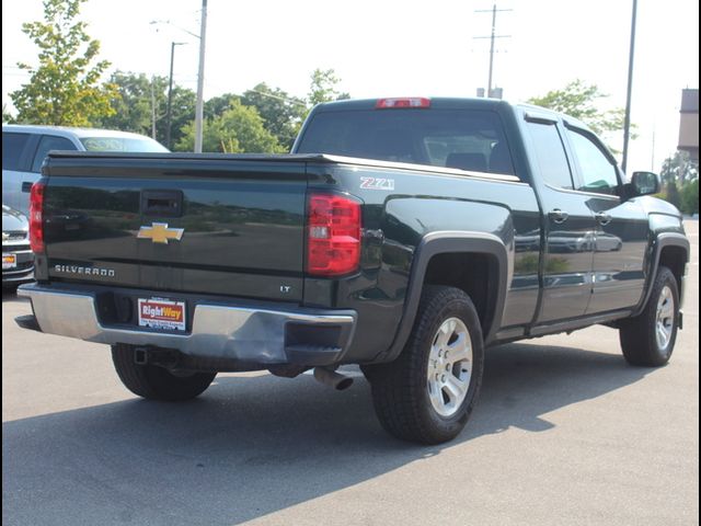
[[[39,64],[18,64],[30,72],[30,82],[10,93],[18,122],[89,126],[114,113],[114,87],[99,83],[110,62],[94,61],[100,42],[90,38],[85,22],[76,20],[85,1],[44,0],[44,21],[22,24],[39,48]]]

